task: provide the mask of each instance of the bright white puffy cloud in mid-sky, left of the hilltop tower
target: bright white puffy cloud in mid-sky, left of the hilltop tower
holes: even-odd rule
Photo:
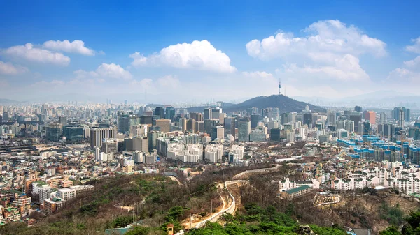
[[[236,68],[230,65],[230,58],[207,40],[182,43],[165,47],[160,52],[144,56],[139,52],[130,54],[132,66],[169,66],[232,73]]]

